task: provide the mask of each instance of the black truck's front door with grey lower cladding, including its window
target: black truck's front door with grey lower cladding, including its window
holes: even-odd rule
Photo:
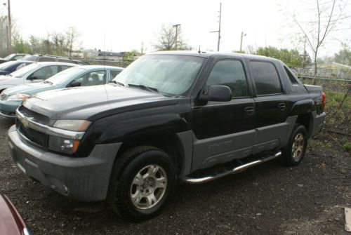
[[[243,63],[240,60],[216,62],[204,92],[211,85],[230,87],[232,100],[209,101],[192,107],[195,137],[192,170],[248,156],[253,146],[255,113]]]

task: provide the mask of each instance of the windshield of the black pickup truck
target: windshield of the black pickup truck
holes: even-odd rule
[[[114,81],[143,85],[161,93],[180,95],[190,88],[204,58],[185,55],[145,55],[116,76]],[[139,86],[140,87],[140,86]]]

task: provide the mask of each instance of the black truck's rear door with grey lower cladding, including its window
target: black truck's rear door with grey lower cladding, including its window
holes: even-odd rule
[[[286,137],[288,101],[283,92],[277,67],[270,61],[251,60],[251,77],[256,89],[253,154],[279,147]]]

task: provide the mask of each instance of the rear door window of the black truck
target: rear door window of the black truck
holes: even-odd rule
[[[251,61],[250,68],[255,81],[257,95],[282,93],[277,69],[272,63]]]

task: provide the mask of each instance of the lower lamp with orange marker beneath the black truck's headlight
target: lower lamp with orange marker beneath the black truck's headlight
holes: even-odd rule
[[[48,148],[66,154],[77,152],[79,140],[71,140],[67,138],[50,136],[48,139]]]

